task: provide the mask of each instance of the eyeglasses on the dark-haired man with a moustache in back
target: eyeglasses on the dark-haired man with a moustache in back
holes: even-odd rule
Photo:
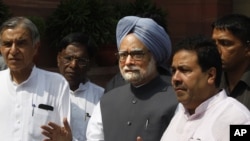
[[[62,58],[62,62],[65,65],[67,65],[67,64],[71,63],[73,60],[75,60],[79,67],[85,67],[85,66],[87,66],[87,64],[89,62],[89,59],[87,59],[87,58],[77,58],[74,56],[66,56],[66,57],[61,57],[61,58]]]

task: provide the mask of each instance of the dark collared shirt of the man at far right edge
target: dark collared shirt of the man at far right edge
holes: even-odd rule
[[[231,92],[229,91],[225,74],[222,77],[221,83],[222,88],[225,88],[226,93],[229,96],[236,98],[250,110],[250,67],[244,72],[240,81],[235,85]]]

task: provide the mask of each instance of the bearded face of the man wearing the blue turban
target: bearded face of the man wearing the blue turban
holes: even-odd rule
[[[152,54],[134,34],[124,37],[119,56],[122,76],[135,86],[147,83],[157,74]]]

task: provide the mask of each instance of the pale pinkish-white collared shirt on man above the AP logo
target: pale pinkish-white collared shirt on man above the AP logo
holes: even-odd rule
[[[229,141],[230,124],[250,124],[250,112],[222,90],[199,105],[193,115],[179,104],[161,141]]]

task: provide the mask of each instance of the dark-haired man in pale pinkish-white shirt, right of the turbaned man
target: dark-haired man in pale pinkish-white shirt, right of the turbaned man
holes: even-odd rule
[[[229,141],[231,124],[250,124],[249,110],[219,89],[221,73],[210,39],[197,36],[177,45],[172,85],[180,103],[161,141]]]

